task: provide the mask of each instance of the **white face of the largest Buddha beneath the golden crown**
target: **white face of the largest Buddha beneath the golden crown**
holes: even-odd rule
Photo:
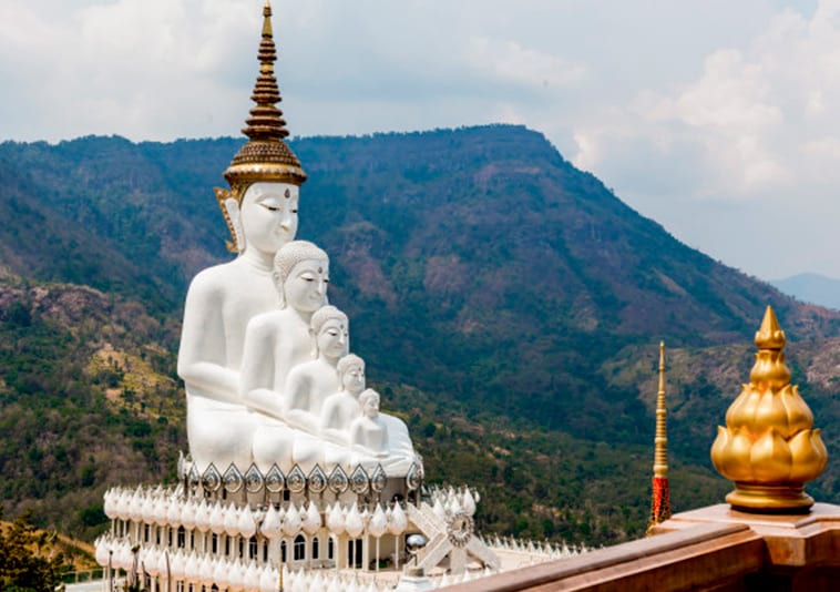
[[[254,183],[239,212],[245,248],[274,255],[297,233],[298,187],[288,183]]]

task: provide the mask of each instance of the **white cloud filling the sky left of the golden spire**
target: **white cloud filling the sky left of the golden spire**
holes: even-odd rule
[[[259,14],[248,4],[4,3],[0,73],[13,81],[14,92],[0,113],[3,135],[59,140],[91,133],[133,139],[231,133],[247,105],[239,88],[242,64],[254,64],[249,78],[256,75]],[[234,120],[227,113],[235,106],[240,111]]]

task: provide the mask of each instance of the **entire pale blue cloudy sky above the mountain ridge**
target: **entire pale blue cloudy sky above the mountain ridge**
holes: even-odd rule
[[[296,136],[521,123],[692,247],[840,278],[840,0],[274,0]],[[263,0],[0,0],[0,141],[238,135]]]

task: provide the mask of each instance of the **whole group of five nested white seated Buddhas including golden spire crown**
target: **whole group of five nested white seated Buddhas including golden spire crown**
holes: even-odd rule
[[[306,174],[284,143],[268,8],[264,16],[249,140],[225,171],[231,190],[216,190],[237,257],[196,275],[184,307],[178,375],[193,466],[376,462],[398,477],[416,460],[408,429],[378,412],[378,396],[362,412],[365,364],[347,356],[347,316],[327,305],[329,258],[294,239]]]

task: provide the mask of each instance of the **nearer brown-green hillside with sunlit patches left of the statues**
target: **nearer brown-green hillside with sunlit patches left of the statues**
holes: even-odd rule
[[[176,340],[177,324],[141,302],[0,274],[3,516],[32,510],[90,539],[105,483],[174,476],[185,441]]]

